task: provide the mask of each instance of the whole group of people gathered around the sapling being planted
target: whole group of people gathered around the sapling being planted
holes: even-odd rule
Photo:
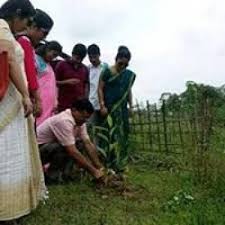
[[[0,223],[35,209],[47,194],[45,178],[64,175],[74,162],[104,177],[86,124],[104,126],[110,114],[128,134],[135,80],[129,49],[119,47],[113,66],[101,62],[96,44],[76,44],[71,57],[56,61],[62,46],[41,42],[53,25],[29,0],[0,8]]]

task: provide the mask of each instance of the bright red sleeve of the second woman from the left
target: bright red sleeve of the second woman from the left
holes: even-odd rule
[[[35,55],[34,49],[30,40],[27,37],[20,37],[17,40],[24,50],[24,66],[27,76],[28,88],[31,91],[38,89],[37,71],[35,68]]]

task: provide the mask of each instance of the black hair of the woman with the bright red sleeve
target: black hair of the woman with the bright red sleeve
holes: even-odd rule
[[[54,21],[46,12],[41,9],[36,9],[36,14],[33,18],[32,25],[35,25],[38,28],[46,29],[46,31],[49,32],[54,25]]]

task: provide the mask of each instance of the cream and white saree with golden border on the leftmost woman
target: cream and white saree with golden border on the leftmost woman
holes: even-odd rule
[[[23,50],[0,19],[0,46],[9,53],[10,74],[25,82]],[[46,187],[33,118],[24,117],[22,97],[13,82],[0,102],[0,221],[17,219],[45,198]]]

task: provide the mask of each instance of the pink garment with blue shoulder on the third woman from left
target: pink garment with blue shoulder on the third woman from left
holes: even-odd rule
[[[36,55],[36,66],[42,104],[42,114],[36,120],[38,127],[46,119],[54,115],[54,110],[57,107],[57,88],[55,73],[51,65],[46,63],[41,56]]]

